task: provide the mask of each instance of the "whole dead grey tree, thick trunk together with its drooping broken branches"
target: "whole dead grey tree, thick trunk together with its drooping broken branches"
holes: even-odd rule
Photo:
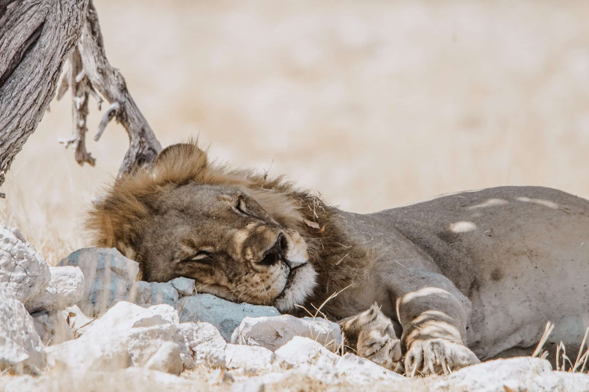
[[[91,0],[0,0],[0,185],[12,160],[35,131],[55,94],[65,59],[70,71],[58,98],[71,88],[74,146],[80,165],[94,165],[85,148],[88,96],[100,92],[111,105],[95,140],[115,118],[129,136],[119,176],[154,161],[161,146],[127,91],[123,75],[108,62]]]

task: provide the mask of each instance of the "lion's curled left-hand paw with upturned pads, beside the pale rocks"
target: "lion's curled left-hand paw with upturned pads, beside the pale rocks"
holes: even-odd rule
[[[385,368],[399,370],[401,340],[396,337],[391,319],[376,304],[342,323],[342,330],[356,341],[353,348],[358,356]]]

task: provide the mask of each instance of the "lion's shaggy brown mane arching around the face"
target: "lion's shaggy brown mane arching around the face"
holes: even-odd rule
[[[167,189],[189,182],[246,187],[276,222],[297,230],[309,246],[310,262],[319,275],[318,287],[310,299],[317,307],[330,294],[352,283],[373,259],[366,250],[353,246],[352,240],[333,222],[333,215],[338,211],[335,207],[323,205],[318,197],[297,189],[282,176],[269,178],[253,170],[211,164],[206,152],[195,142],[164,149],[153,167],[138,169],[107,187],[91,207],[85,222],[85,227],[94,234],[92,243],[116,247],[134,259],[134,244],[138,243],[157,200],[164,197]],[[310,227],[305,220],[316,222],[322,229]],[[141,264],[141,260],[137,261]],[[329,311],[329,306],[323,310],[339,313],[335,308]]]

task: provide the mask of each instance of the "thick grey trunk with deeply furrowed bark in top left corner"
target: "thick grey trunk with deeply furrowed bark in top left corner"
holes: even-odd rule
[[[0,185],[55,94],[87,6],[88,0],[0,4]]]

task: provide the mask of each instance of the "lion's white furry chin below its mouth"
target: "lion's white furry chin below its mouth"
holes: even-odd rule
[[[292,310],[296,304],[302,304],[315,289],[316,277],[317,273],[311,264],[292,269],[282,293],[274,300],[274,307],[286,312]]]

